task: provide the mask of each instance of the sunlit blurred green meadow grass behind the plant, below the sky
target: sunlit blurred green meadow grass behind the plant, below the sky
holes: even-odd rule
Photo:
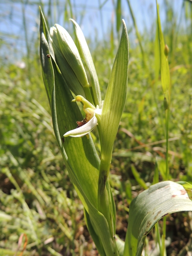
[[[68,9],[65,9],[65,18],[68,20],[72,16],[67,3],[66,6]],[[166,14],[169,15],[166,27],[162,24],[162,30],[170,50],[172,84],[169,170],[173,180],[192,183],[192,19],[190,3],[183,1],[183,6],[180,10],[181,17],[186,21],[186,25],[180,22],[180,28],[185,29],[183,33],[171,18],[176,19],[172,6],[163,6],[169,12]],[[46,19],[52,26],[54,15],[49,10]],[[161,12],[162,8],[160,14]],[[137,16],[135,20],[138,24]],[[151,21],[151,26],[155,28],[155,21]],[[105,38],[108,44],[103,47],[98,42],[91,52],[102,99],[114,60],[111,49],[115,47],[114,44],[111,47],[109,36]],[[115,41],[114,38],[111,40]],[[166,149],[165,123],[162,118],[164,96],[159,77],[158,53],[155,50],[155,35],[154,40],[149,41],[140,32],[140,42],[141,46],[131,40],[128,99],[113,147],[109,175],[117,211],[116,233],[124,240],[128,207],[132,198],[143,189],[140,180],[131,172],[131,164],[134,163],[146,186],[153,183],[154,173],[155,181],[158,182],[158,176],[162,180],[166,171],[163,160]],[[141,47],[144,49],[144,57]],[[89,252],[98,255],[82,218],[81,202],[55,143],[49,103],[41,79],[38,50],[35,49],[34,52],[29,52],[31,59],[24,58],[31,70],[21,70],[16,65],[2,62],[0,71],[0,247],[4,248],[0,253],[14,255],[20,234],[26,233],[28,245],[27,252],[23,255],[89,255]],[[143,66],[144,61],[146,66]],[[81,119],[81,113],[79,116]],[[73,125],[75,128],[76,124]],[[96,130],[92,137],[99,152]],[[86,217],[86,213],[84,215]],[[187,250],[183,236],[189,238],[190,221],[190,213],[168,216],[171,241],[179,242],[177,246],[172,243],[167,247],[167,255],[176,255],[182,248]],[[170,228],[176,224],[178,233]],[[91,226],[88,229],[93,236]],[[154,244],[157,241],[153,231],[148,239]]]

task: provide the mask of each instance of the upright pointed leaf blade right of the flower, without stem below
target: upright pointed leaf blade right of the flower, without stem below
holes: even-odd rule
[[[101,116],[101,169],[108,177],[113,143],[119,127],[127,97],[128,82],[128,34],[125,21],[119,49],[111,70],[111,76]]]

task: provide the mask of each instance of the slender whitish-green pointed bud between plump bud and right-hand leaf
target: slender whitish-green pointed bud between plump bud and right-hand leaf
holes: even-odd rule
[[[101,108],[102,100],[99,88],[99,80],[96,74],[95,66],[93,64],[93,59],[91,57],[89,47],[87,46],[87,42],[84,38],[80,26],[76,23],[75,20],[71,19],[71,21],[73,22],[73,25],[75,27],[81,58],[84,60],[84,63],[87,66],[87,71],[89,72],[87,77],[90,77],[90,88],[93,90],[93,100],[95,106],[98,105],[99,108]]]

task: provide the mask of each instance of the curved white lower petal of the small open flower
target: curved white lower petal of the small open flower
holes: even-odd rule
[[[96,116],[94,115],[89,122],[87,122],[85,125],[82,125],[79,128],[76,128],[74,130],[71,131],[67,131],[64,134],[64,137],[82,137],[86,134],[88,134],[90,131],[93,131],[93,129],[96,127],[97,125],[97,119]]]

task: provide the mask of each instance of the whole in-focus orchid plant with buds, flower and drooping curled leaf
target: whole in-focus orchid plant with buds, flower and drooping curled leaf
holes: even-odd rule
[[[129,49],[125,21],[102,101],[93,60],[79,25],[71,20],[77,48],[60,25],[48,31],[41,8],[40,15],[41,66],[53,128],[70,179],[84,205],[87,228],[101,256],[139,256],[154,224],[168,213],[192,210],[192,202],[178,183],[154,184],[131,202],[125,241],[116,236],[116,207],[108,175],[127,97]],[[82,103],[84,116],[76,102]],[[100,155],[90,135],[96,127]]]

